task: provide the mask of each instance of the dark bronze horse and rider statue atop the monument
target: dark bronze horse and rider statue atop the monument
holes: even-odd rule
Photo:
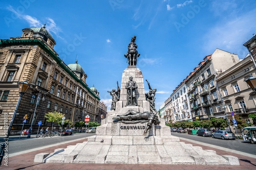
[[[128,45],[128,51],[125,54],[125,58],[128,59],[129,65],[137,65],[137,58],[140,54],[137,51],[137,44],[135,42],[136,36],[131,38],[131,42]]]

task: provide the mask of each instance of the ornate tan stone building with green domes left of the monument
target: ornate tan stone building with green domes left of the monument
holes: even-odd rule
[[[52,111],[65,114],[65,120],[73,124],[84,121],[87,114],[91,122],[100,122],[107,107],[100,102],[96,88],[88,87],[87,75],[77,60],[67,65],[58,57],[56,42],[45,26],[22,31],[21,37],[0,39],[0,135],[15,111],[20,95],[18,82],[25,80],[31,86],[20,100],[10,135],[20,134],[25,115],[28,120],[23,129],[32,124],[32,134],[37,132],[39,121],[41,127],[51,126],[44,116]],[[39,92],[45,94],[45,100],[40,100],[36,107]],[[55,123],[54,131],[59,128]]]

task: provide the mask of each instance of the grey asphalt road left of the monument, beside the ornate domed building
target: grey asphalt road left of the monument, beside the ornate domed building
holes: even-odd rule
[[[93,136],[95,133],[86,133],[86,137]],[[75,133],[73,135],[68,136],[53,136],[45,137],[45,138],[35,138],[35,135],[30,139],[26,139],[26,137],[21,138],[20,140],[15,140],[14,138],[10,138],[8,142],[8,154],[18,153],[26,150],[35,149],[38,147],[47,147],[53,144],[59,144],[63,142],[72,141],[75,139],[84,139],[85,133]]]

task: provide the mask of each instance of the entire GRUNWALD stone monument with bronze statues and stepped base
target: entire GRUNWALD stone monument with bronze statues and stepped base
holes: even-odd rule
[[[180,142],[154,108],[156,89],[148,83],[145,94],[143,74],[137,68],[136,36],[128,46],[129,65],[122,73],[119,99],[112,98],[114,109],[108,111],[96,135],[86,142],[54,153],[40,153],[35,162],[95,164],[221,164],[239,165],[234,156],[220,156],[213,150],[202,150]],[[136,51],[135,51],[136,50]],[[113,91],[115,93],[116,91]],[[152,98],[152,93],[153,98]],[[147,97],[146,97],[147,95]],[[112,107],[111,107],[112,108]]]

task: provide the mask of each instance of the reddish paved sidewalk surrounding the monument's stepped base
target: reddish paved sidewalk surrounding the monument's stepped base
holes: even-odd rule
[[[52,153],[55,149],[66,148],[68,145],[75,145],[81,143],[87,139],[78,140],[76,142],[70,142],[61,144],[55,147],[49,147],[33,151],[30,153],[24,153],[18,156],[12,156],[8,158],[8,167],[3,164],[0,166],[0,170],[255,170],[256,159],[244,155],[239,155],[233,152],[227,152],[224,150],[215,149],[209,146],[200,145],[190,141],[180,139],[180,142],[192,144],[193,146],[200,146],[204,150],[215,150],[218,155],[232,155],[239,158],[240,165],[157,165],[157,164],[67,164],[67,163],[38,163],[34,162],[34,157],[38,153]]]

